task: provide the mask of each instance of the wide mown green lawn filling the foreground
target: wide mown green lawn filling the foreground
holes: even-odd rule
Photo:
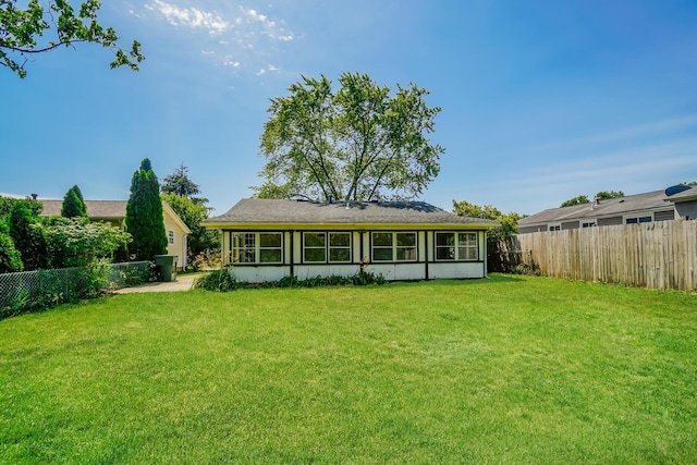
[[[695,463],[697,295],[546,278],[0,321],[0,463]]]

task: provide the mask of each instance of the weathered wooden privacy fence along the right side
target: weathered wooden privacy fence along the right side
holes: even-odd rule
[[[697,289],[697,221],[518,234],[511,248],[529,250],[542,276],[680,291]]]

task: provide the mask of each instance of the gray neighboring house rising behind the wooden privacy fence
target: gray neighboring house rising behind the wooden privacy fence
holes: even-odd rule
[[[697,189],[684,186],[550,208],[518,221],[519,234],[697,218]],[[670,195],[669,195],[670,194]],[[678,197],[680,196],[680,197]],[[680,209],[678,209],[680,206]],[[682,211],[682,213],[681,213]]]

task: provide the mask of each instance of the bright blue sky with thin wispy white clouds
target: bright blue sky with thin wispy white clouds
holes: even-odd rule
[[[535,213],[697,181],[694,0],[110,0],[137,73],[81,45],[0,69],[0,193],[125,199],[145,157],[227,211],[260,184],[269,99],[299,75],[409,82],[442,107],[421,199]]]

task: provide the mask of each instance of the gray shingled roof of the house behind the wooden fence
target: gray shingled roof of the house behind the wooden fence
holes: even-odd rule
[[[653,191],[645,194],[627,195],[620,198],[600,200],[600,204],[583,204],[572,207],[550,208],[518,221],[519,227],[547,224],[550,222],[575,221],[591,218],[608,218],[635,211],[668,210],[665,192]]]

